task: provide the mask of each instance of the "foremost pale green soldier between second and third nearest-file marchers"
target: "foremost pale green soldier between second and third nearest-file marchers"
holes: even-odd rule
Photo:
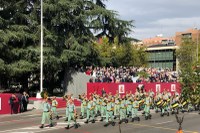
[[[95,102],[92,97],[89,98],[89,102],[87,104],[87,120],[85,123],[88,123],[90,120],[90,116],[92,117],[92,123],[95,123],[94,116],[95,116]]]

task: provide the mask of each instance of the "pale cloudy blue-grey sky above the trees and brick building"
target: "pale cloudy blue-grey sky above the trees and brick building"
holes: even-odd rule
[[[107,9],[124,20],[134,20],[130,36],[174,36],[190,28],[200,29],[200,0],[107,0]]]

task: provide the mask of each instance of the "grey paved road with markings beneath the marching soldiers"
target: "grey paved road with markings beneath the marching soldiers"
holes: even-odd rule
[[[151,120],[144,120],[144,116],[140,116],[140,122],[129,122],[120,125],[104,127],[105,122],[96,121],[94,124],[85,124],[84,119],[78,120],[81,127],[74,129],[73,127],[66,130],[66,122],[64,109],[59,109],[61,117],[55,127],[45,127],[40,129],[41,111],[33,110],[23,114],[16,115],[0,115],[0,133],[175,133],[178,124],[175,116],[164,116],[161,118],[158,114],[152,112]],[[180,114],[182,115],[182,114]],[[99,120],[100,118],[97,118]],[[116,120],[117,122],[117,120]],[[182,124],[184,133],[200,133],[200,115],[197,112],[184,113],[184,122]]]

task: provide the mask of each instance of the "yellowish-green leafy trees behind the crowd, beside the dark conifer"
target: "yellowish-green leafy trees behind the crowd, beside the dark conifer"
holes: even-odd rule
[[[119,44],[115,38],[114,43],[104,37],[102,43],[97,43],[97,50],[101,59],[101,66],[145,66],[147,54],[142,47],[132,46],[130,43]]]

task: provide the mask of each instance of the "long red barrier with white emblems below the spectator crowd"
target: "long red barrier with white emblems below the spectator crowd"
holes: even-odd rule
[[[152,89],[154,93],[158,90],[163,92],[165,89],[173,94],[175,91],[180,93],[181,90],[180,83],[87,83],[87,95],[90,96],[90,93],[95,91],[101,95],[103,88],[107,94],[112,93],[114,95],[116,91],[119,91],[121,95],[125,95],[130,91],[135,93],[136,88],[142,85],[147,92]]]

